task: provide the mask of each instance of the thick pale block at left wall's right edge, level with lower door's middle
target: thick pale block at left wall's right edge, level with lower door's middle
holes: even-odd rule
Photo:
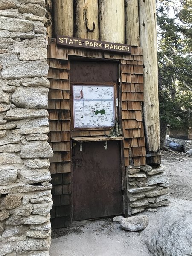
[[[30,169],[23,167],[18,169],[18,179],[25,184],[35,184],[50,181],[51,175],[48,169]]]

